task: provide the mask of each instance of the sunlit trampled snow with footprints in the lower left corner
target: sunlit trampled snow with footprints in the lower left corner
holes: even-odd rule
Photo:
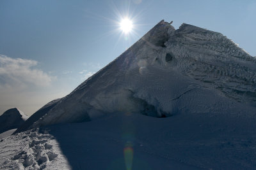
[[[38,129],[1,139],[0,169],[70,169],[54,145],[58,145],[54,137]]]

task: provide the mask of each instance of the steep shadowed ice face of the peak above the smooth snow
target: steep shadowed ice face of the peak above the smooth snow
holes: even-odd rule
[[[152,117],[256,113],[256,60],[222,34],[163,20],[31,127],[113,112]],[[18,129],[19,130],[19,129]]]

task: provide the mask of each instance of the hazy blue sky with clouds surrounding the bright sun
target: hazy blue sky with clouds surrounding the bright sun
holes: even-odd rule
[[[133,19],[124,35],[120,18]],[[164,19],[221,32],[256,56],[256,1],[0,1],[0,114],[63,97]]]

